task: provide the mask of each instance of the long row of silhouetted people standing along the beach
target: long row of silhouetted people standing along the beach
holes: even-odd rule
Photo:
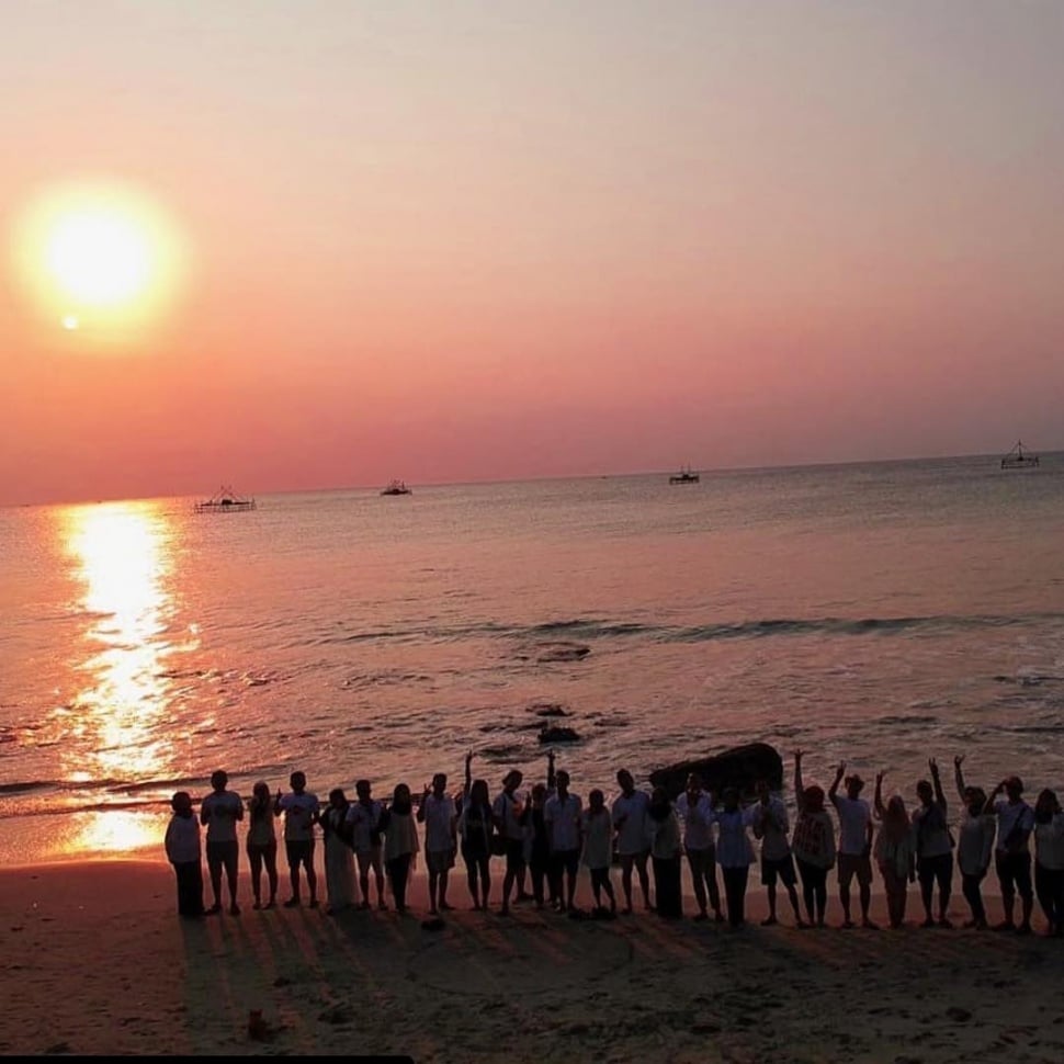
[[[354,904],[356,862],[360,907],[370,907],[371,875],[377,906],[387,907],[386,873],[395,905],[405,910],[409,874],[421,849],[418,824],[423,824],[433,915],[451,908],[449,876],[457,853],[466,868],[473,906],[482,910],[488,908],[491,891],[490,859],[505,856],[499,908],[503,915],[509,913],[514,893],[518,898],[529,897],[539,907],[550,904],[561,912],[573,909],[581,864],[590,874],[596,910],[613,915],[618,899],[611,869],[616,862],[621,865],[624,913],[632,912],[635,875],[643,905],[652,908],[648,869],[653,869],[654,907],[664,917],[680,916],[681,867],[686,859],[698,906],[694,918],[709,919],[712,908],[717,921],[725,920],[726,910],[729,922],[740,925],[745,920],[749,869],[757,861],[750,840],[752,833],[760,841],[761,882],[767,888],[769,912],[765,924],[777,922],[777,884],[780,883],[799,927],[824,926],[827,876],[837,868],[842,926],[856,924],[851,904],[856,880],[861,924],[874,928],[870,916],[874,861],[883,880],[893,927],[903,922],[908,886],[917,880],[925,909],[924,926],[948,927],[955,848],[963,894],[972,913],[967,926],[987,926],[982,881],[993,860],[1005,909],[999,926],[1029,931],[1037,891],[1050,930],[1064,933],[1064,814],[1054,792],[1043,791],[1032,808],[1022,799],[1022,783],[1017,777],[1009,777],[986,795],[980,788],[965,784],[963,758],[955,758],[957,790],[964,805],[958,841],[950,830],[947,800],[933,760],[929,762],[930,779],[916,785],[917,805],[910,814],[899,794],[884,802],[884,773],[876,777],[872,803],[861,796],[863,780],[857,773],[847,776],[845,763],[838,766],[827,793],[816,784],[805,785],[802,757],[801,750],[794,757],[797,818],[793,835],[783,800],[763,780],[757,784],[756,801],[746,807],[738,792],[732,789],[725,790],[716,801],[695,776],[688,779],[684,791],[674,803],[660,788],[653,793],[636,789],[631,772],[622,769],[616,776],[620,793],[612,804],[607,807],[603,793],[596,790],[589,794],[585,808],[570,791],[568,773],[555,772],[554,757],[550,755],[545,783],[539,782],[528,792],[522,791],[523,776],[514,769],[503,778],[502,788],[493,801],[487,781],[472,778],[473,755],[469,754],[464,786],[454,797],[446,792],[446,776],[438,773],[417,803],[406,784],[395,789],[390,802],[380,802],[372,796],[370,782],[360,780],[353,802],[338,788],[330,792],[322,808],[316,795],[306,790],[304,774],[294,772],[291,792],[279,791],[271,796],[268,784],[260,782],[248,802],[247,852],[254,905],[269,908],[275,904],[278,844],[273,820],[283,815],[292,886],[286,906],[301,904],[301,870],[306,879],[309,904],[317,905],[314,847],[315,827],[320,826],[329,908]],[[207,867],[214,894],[214,904],[207,912],[220,912],[224,873],[229,910],[239,913],[236,824],[244,819],[245,806],[238,795],[227,790],[227,782],[224,772],[214,773],[213,792],[203,800],[199,818],[193,815],[188,794],[174,795],[167,851],[178,873],[179,910],[189,915],[202,910],[195,885],[201,875],[200,824],[207,827]],[[828,804],[838,818],[837,841]],[[879,822],[878,831],[875,822]],[[1033,888],[1029,846],[1032,835],[1035,841]],[[717,868],[724,881],[724,905]],[[264,903],[263,870],[269,887]],[[186,895],[182,893],[183,874]],[[529,876],[531,895],[525,891]],[[936,886],[937,910],[933,907]],[[199,890],[202,895],[202,880]],[[1021,903],[1019,924],[1015,922],[1017,895]]]

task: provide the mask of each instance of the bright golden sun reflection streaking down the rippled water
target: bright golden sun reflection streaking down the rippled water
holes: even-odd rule
[[[173,650],[173,522],[149,501],[71,507],[61,520],[88,618],[84,642],[75,647],[82,679],[65,726],[65,777],[110,788],[165,779],[173,771],[165,666]],[[139,849],[157,837],[154,819],[88,810],[78,814],[63,849]]]

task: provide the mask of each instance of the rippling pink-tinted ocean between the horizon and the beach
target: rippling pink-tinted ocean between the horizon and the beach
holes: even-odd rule
[[[216,768],[494,793],[544,706],[585,796],[752,740],[1064,789],[1064,454],[998,457],[2,509],[0,860],[158,856]]]

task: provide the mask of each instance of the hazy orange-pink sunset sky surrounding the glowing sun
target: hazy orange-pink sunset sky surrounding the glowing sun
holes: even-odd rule
[[[12,3],[0,503],[1064,448],[1062,55],[1057,0]],[[165,316],[32,305],[71,182],[170,219]]]

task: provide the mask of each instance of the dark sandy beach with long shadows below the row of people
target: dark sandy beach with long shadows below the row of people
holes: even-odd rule
[[[579,891],[586,901],[582,879]],[[247,894],[244,879],[240,916],[181,920],[162,863],[0,872],[0,1052],[405,1054],[418,1064],[1064,1059],[1064,942],[921,929],[915,888],[897,931],[800,931],[785,896],[784,922],[761,927],[759,886],[740,930],[638,912],[570,920],[525,904],[509,918],[485,915],[469,912],[454,876],[456,909],[432,931],[421,926],[420,873],[405,918],[254,912]],[[998,918],[996,898],[989,908]],[[962,899],[952,912],[960,924]],[[837,898],[828,919],[840,919]],[[264,1041],[249,1037],[251,1010],[269,1025]]]

